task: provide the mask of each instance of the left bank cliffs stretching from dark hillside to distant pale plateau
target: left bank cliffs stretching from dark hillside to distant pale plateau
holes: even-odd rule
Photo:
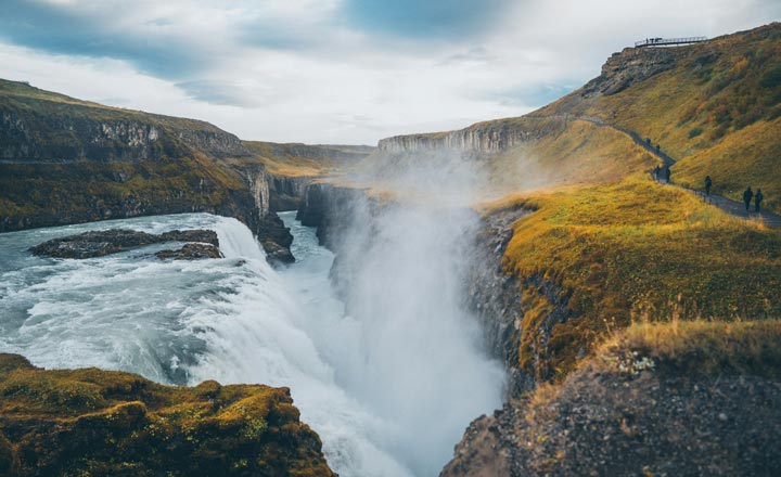
[[[0,232],[157,214],[235,217],[290,262],[277,210],[371,147],[243,142],[204,121],[0,80]]]

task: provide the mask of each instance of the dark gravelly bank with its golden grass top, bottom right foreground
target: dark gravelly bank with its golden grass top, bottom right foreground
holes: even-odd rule
[[[475,420],[440,476],[776,475],[780,331],[630,328],[561,385]]]

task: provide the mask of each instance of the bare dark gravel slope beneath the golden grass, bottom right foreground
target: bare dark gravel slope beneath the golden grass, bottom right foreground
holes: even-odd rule
[[[587,366],[474,421],[441,477],[773,476],[781,384]]]

